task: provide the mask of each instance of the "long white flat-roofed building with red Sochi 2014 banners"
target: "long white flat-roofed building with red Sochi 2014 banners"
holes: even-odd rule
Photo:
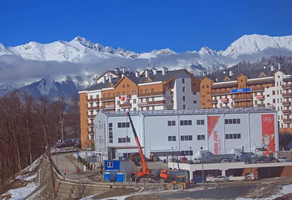
[[[201,147],[213,154],[234,149],[278,150],[277,113],[267,108],[129,111],[147,158],[179,155],[192,159]],[[95,148],[107,159],[138,152],[126,111],[100,111],[94,118]],[[265,139],[264,139],[265,138]]]

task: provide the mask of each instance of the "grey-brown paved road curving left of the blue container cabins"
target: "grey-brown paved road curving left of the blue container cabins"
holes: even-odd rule
[[[67,179],[78,180],[78,174],[76,172],[76,169],[77,166],[79,166],[80,169],[79,180],[91,182],[91,180],[87,177],[91,176],[92,173],[83,172],[83,165],[77,163],[77,159],[73,157],[73,154],[74,153],[52,155],[52,160],[57,165],[58,170],[60,171],[62,176],[64,176],[64,169],[67,170],[65,176]]]

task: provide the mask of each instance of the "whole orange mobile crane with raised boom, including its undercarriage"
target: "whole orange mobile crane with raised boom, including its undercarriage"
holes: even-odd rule
[[[153,177],[153,174],[152,174],[151,169],[148,169],[148,166],[146,164],[145,156],[143,154],[142,147],[140,145],[140,142],[139,142],[139,139],[138,139],[138,136],[137,136],[137,133],[136,133],[136,130],[135,130],[135,127],[133,125],[133,121],[131,119],[129,112],[127,112],[127,115],[128,115],[130,125],[131,125],[132,130],[133,130],[133,133],[134,133],[134,137],[135,137],[135,141],[136,141],[137,146],[138,146],[139,154],[141,156],[141,161],[140,161],[141,167],[138,169],[138,172],[136,173],[135,179],[136,179],[136,182],[149,183],[149,182],[151,182],[151,178]]]

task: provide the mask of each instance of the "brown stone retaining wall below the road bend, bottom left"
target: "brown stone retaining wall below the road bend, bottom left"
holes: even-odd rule
[[[110,190],[111,185],[88,184],[57,180],[58,185],[56,199],[58,200],[79,200],[86,196],[95,195],[102,191]]]

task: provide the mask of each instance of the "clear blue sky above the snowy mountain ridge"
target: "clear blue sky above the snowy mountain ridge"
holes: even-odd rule
[[[141,53],[224,50],[243,35],[292,35],[291,0],[1,0],[0,43],[82,36]]]

